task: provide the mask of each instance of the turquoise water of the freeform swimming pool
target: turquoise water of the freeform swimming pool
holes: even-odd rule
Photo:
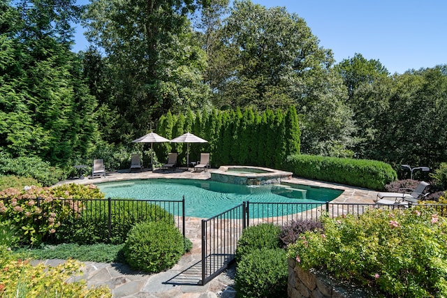
[[[249,202],[312,202],[334,200],[343,191],[332,188],[277,184],[247,186],[196,179],[144,179],[97,184],[106,198],[182,200],[186,216],[210,218]]]

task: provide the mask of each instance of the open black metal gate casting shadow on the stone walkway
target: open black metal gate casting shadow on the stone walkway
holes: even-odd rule
[[[202,220],[202,279],[200,285],[227,269],[235,259],[237,241],[245,228],[246,204]]]

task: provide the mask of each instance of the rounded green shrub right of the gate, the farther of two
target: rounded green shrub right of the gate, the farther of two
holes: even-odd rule
[[[272,223],[261,223],[246,228],[237,241],[236,261],[239,262],[244,255],[255,249],[279,248],[281,246],[279,233],[281,228]]]

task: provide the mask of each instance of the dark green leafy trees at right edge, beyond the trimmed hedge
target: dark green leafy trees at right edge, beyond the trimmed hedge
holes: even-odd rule
[[[361,158],[430,167],[446,160],[446,66],[381,78],[359,87],[353,98],[367,119]]]

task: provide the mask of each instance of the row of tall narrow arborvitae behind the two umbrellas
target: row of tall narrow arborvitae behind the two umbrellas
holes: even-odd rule
[[[189,110],[185,117],[168,112],[160,118],[156,129],[156,133],[168,139],[186,132],[208,141],[190,144],[189,161],[199,161],[200,152],[210,152],[212,167],[256,165],[281,169],[287,156],[300,154],[295,107],[285,112],[255,112],[251,108],[201,113]],[[186,165],[186,144],[163,143],[154,150],[161,162],[169,152],[177,152],[177,162]]]

